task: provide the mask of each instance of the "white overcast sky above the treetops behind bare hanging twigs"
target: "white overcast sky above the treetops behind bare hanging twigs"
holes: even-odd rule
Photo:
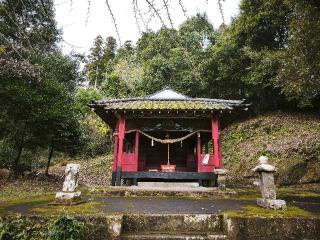
[[[232,17],[238,14],[239,1],[225,0],[223,2],[223,13],[227,24],[230,23]],[[117,38],[105,0],[54,0],[54,2],[58,27],[63,30],[62,47],[65,53],[72,50],[79,53],[88,52],[93,39],[99,34],[104,38],[107,36]],[[143,21],[146,22],[150,16],[146,1],[138,0],[137,2]],[[178,0],[169,0],[168,2],[174,27],[178,27],[186,20],[186,16],[181,10]],[[121,42],[132,40],[135,43],[140,33],[133,13],[132,0],[109,0],[109,3],[116,18]],[[160,9],[160,14],[166,21],[166,25],[170,26],[165,8],[162,6],[163,1],[155,0],[154,3],[156,8]],[[183,0],[183,3],[187,16],[206,12],[215,28],[218,28],[222,23],[217,0]],[[143,31],[145,30],[144,24],[141,18],[139,19],[139,26]],[[159,19],[156,17],[152,19],[148,27],[153,30],[159,29],[162,26]]]

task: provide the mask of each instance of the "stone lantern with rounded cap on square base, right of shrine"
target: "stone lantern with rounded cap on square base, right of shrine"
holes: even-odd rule
[[[276,186],[274,184],[275,167],[268,164],[268,158],[261,156],[258,159],[259,165],[253,171],[259,174],[259,187],[262,198],[257,199],[259,206],[271,209],[284,209],[286,202],[284,200],[276,199]]]

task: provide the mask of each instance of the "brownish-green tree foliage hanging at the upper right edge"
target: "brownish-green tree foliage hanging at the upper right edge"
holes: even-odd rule
[[[286,96],[296,100],[299,106],[319,106],[320,5],[307,0],[289,2],[294,12],[278,83]]]

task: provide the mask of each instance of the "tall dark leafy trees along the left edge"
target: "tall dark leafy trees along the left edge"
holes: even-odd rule
[[[50,146],[50,161],[53,146],[68,151],[66,143],[75,144],[78,64],[56,47],[50,0],[2,1],[0,26],[0,162],[19,173],[24,152]]]

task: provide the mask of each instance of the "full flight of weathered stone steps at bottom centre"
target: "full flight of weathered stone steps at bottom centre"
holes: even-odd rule
[[[120,239],[227,239],[225,226],[219,214],[131,214],[123,218]]]

